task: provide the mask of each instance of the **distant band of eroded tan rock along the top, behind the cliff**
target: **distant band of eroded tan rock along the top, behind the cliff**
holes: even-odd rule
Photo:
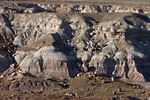
[[[7,5],[7,6],[6,6]],[[150,7],[134,4],[111,4],[111,3],[83,3],[83,2],[41,2],[41,3],[1,3],[1,13],[38,13],[38,12],[122,12],[122,13],[150,13]]]

